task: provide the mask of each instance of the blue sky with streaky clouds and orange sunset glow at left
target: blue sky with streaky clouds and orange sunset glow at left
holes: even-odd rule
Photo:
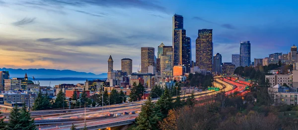
[[[251,60],[287,53],[298,37],[297,0],[0,0],[0,68],[107,72],[121,59],[141,63],[141,47],[172,45],[172,16],[184,17],[186,36],[213,29],[214,55],[231,62],[240,41]],[[297,43],[298,44],[298,43]]]

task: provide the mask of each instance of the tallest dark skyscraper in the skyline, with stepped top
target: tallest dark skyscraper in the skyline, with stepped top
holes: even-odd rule
[[[182,15],[175,14],[173,16],[173,57],[172,64],[182,65],[182,49],[186,42],[186,31],[183,29]]]

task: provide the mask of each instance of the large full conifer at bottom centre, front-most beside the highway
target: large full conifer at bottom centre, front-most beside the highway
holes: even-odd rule
[[[157,124],[160,121],[160,117],[157,116],[154,107],[155,105],[151,97],[149,97],[141,108],[141,113],[136,122],[137,127],[134,130],[158,130]]]

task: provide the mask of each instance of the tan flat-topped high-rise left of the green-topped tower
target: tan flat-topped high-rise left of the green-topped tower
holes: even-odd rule
[[[155,66],[154,62],[154,48],[142,47],[141,48],[141,72],[148,73],[148,66]]]

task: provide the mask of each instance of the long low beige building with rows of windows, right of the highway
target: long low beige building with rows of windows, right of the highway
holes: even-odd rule
[[[266,80],[269,80],[271,87],[275,85],[283,85],[287,84],[289,87],[292,87],[293,84],[293,76],[292,75],[266,75]]]

